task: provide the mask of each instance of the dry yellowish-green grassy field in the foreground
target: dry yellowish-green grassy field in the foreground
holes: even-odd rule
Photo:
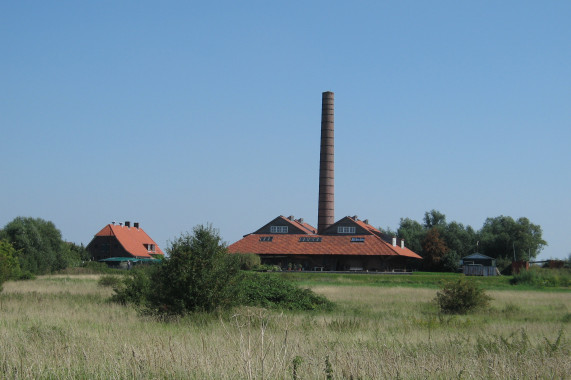
[[[441,316],[431,302],[439,279],[428,274],[297,276],[290,277],[338,308],[318,314],[241,308],[161,322],[108,302],[111,290],[97,285],[97,275],[5,283],[0,378],[570,376],[568,289],[519,290],[493,279],[491,310]]]

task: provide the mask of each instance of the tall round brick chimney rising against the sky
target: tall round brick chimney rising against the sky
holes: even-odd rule
[[[319,206],[317,233],[335,223],[334,198],[334,94],[326,91],[321,99],[321,150],[319,156]]]

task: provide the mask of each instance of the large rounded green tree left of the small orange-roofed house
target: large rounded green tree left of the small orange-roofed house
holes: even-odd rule
[[[55,225],[40,218],[17,217],[4,227],[2,237],[18,251],[23,272],[45,274],[79,262]]]

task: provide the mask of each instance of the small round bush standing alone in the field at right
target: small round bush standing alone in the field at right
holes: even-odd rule
[[[489,306],[490,300],[483,289],[463,278],[446,283],[435,298],[440,311],[447,314],[466,314],[483,309]]]

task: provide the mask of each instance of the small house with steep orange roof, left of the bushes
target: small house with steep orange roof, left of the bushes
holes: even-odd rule
[[[130,222],[106,225],[87,245],[87,251],[95,261],[117,258],[133,260],[164,257],[157,243],[142,228],[139,223]]]

